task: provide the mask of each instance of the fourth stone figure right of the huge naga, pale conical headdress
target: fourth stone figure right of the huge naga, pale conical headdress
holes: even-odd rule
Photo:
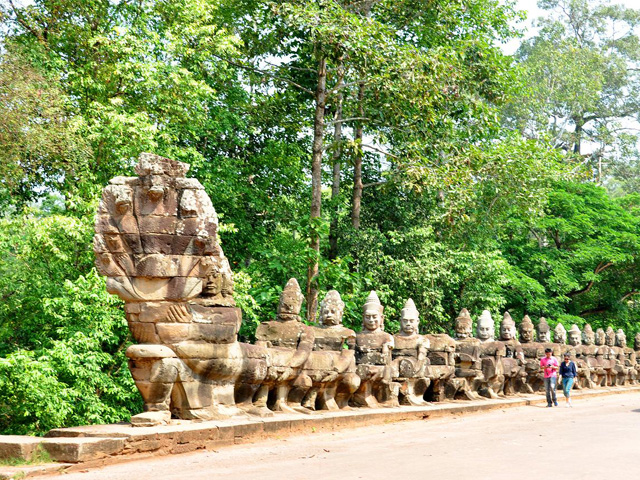
[[[423,396],[430,383],[425,377],[429,340],[418,332],[419,315],[413,300],[408,299],[400,312],[400,333],[393,336],[392,376],[404,405],[425,405]]]

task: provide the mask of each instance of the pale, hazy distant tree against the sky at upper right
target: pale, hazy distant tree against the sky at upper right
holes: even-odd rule
[[[602,183],[637,157],[640,10],[608,2],[542,0],[540,31],[516,53],[523,93],[509,124],[550,136]]]

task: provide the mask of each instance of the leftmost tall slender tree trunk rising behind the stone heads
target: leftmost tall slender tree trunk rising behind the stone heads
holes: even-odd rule
[[[320,218],[322,204],[322,150],[324,140],[324,109],[327,96],[327,61],[318,61],[318,87],[316,89],[316,113],[313,119],[313,150],[311,155],[311,248],[307,271],[307,320],[313,322],[318,304],[318,257],[320,255],[320,235],[315,229],[314,219]]]

